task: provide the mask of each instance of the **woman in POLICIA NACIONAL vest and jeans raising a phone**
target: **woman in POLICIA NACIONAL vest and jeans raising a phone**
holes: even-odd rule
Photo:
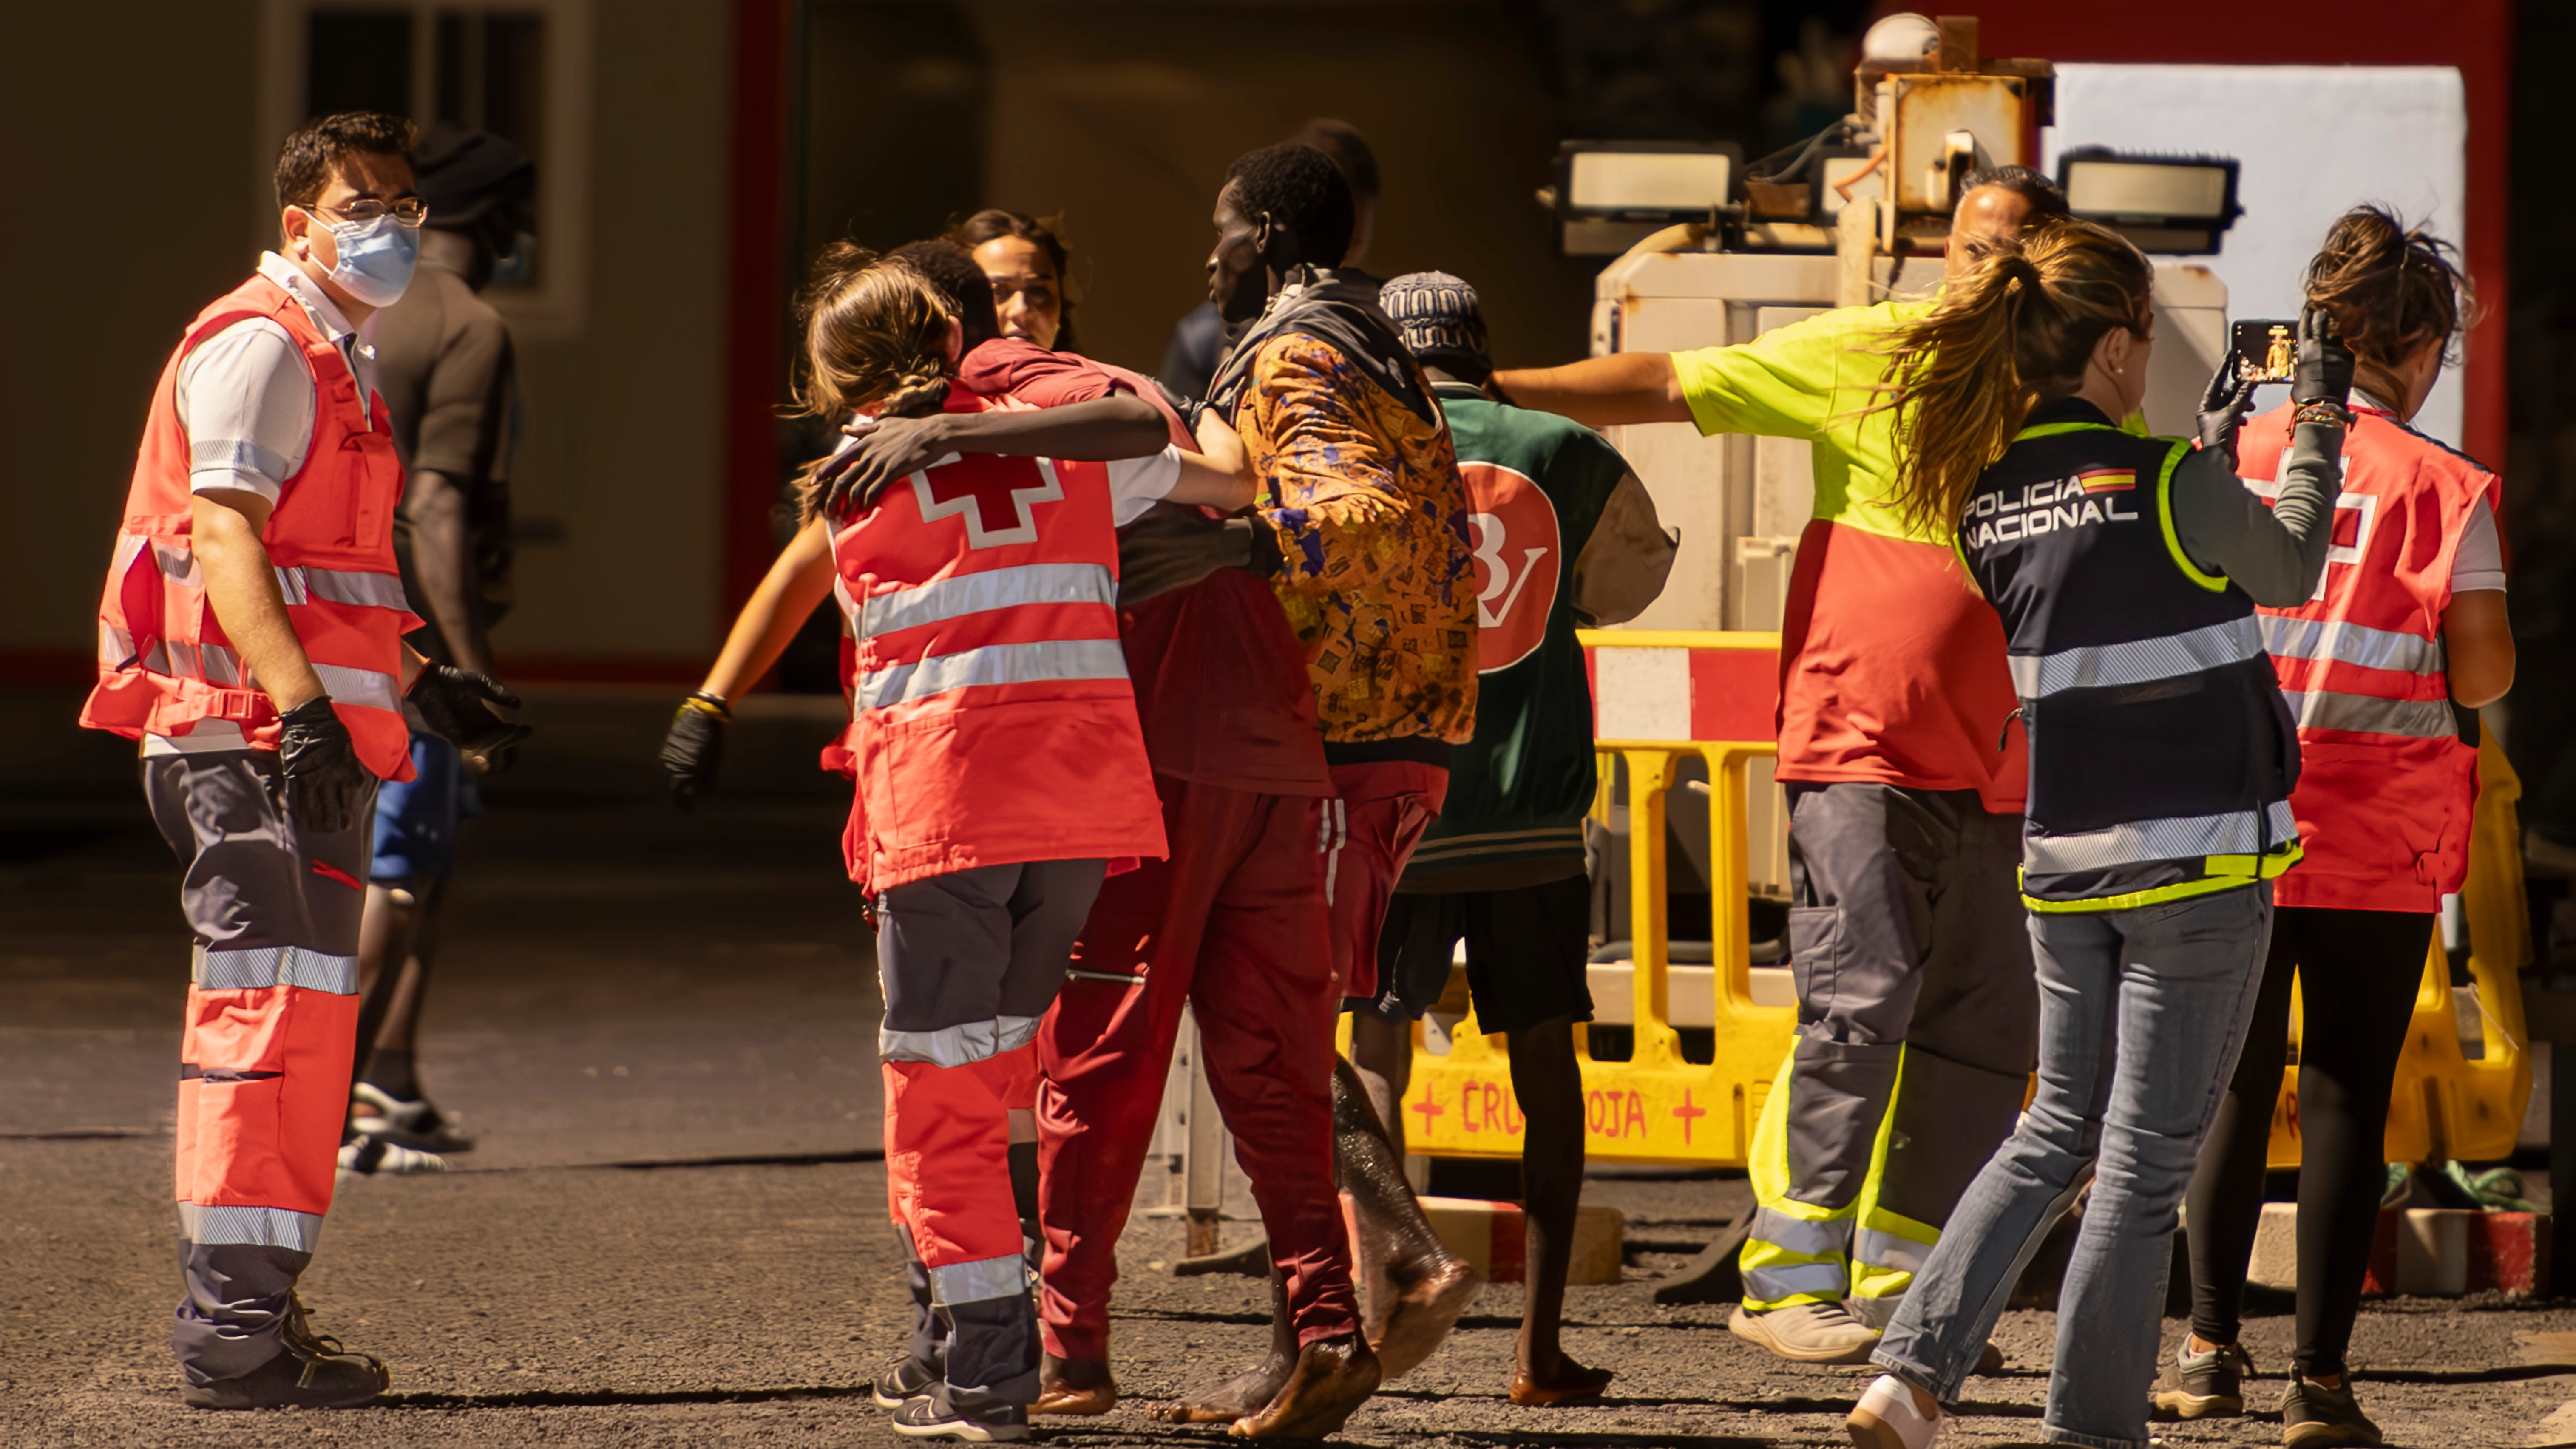
[[[2172,1233],[2298,862],[2298,739],[2254,620],[2316,587],[2352,363],[2303,327],[2280,504],[2146,399],[2154,273],[2061,221],[1999,245],[1891,345],[1899,510],[1945,528],[2002,618],[2030,736],[2022,903],[2038,1094],[1960,1197],[1873,1354],[1865,1449],[1924,1449],[2040,1238],[2092,1181],[2043,1436],[2143,1446]]]

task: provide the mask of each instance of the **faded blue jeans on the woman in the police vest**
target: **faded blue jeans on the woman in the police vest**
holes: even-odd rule
[[[2094,1181],[2058,1289],[2050,1444],[2143,1449],[2182,1189],[2272,939],[2272,885],[2032,914],[2040,1089],[1914,1277],[1873,1361],[1958,1403],[2040,1238]]]

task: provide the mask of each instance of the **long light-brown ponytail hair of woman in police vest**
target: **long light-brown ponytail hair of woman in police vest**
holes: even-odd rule
[[[1976,476],[2043,401],[2074,396],[2112,327],[2148,327],[2154,268],[2117,232],[2048,221],[1996,242],[1888,342],[1870,412],[1893,412],[1896,512],[1919,533],[1958,525]]]

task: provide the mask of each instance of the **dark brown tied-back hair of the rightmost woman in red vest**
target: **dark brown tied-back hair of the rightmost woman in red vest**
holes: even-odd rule
[[[2398,221],[2385,206],[2354,206],[2326,229],[2308,260],[2308,304],[2334,314],[2352,347],[2360,383],[2383,401],[2391,368],[2424,342],[2442,340],[2442,363],[2458,363],[2460,332],[2476,319],[2478,293],[2460,270],[2460,250],[2424,226]]]

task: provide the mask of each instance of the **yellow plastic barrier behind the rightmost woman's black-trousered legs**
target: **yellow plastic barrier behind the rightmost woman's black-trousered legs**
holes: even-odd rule
[[[2512,1156],[2522,1112],[2532,1102],[2530,1035],[2522,1027],[2522,968],[2532,960],[2530,914],[2522,903],[2522,824],[2514,800],[2522,780],[2504,759],[2496,731],[2478,746],[2478,813],[2468,834],[2468,975],[2478,988],[2476,1040],[2483,1055],[2460,1050],[2460,1011],[2450,993],[2450,957],[2434,934],[2416,988],[2414,1022],[2398,1055],[2398,1081],[2388,1099],[2385,1150],[2393,1163],[2445,1158],[2494,1161]],[[2331,965],[2321,965],[2331,978]],[[2272,1107],[2275,1168],[2298,1166],[2298,1011],[2290,1014],[2290,1066],[2282,1068]]]

